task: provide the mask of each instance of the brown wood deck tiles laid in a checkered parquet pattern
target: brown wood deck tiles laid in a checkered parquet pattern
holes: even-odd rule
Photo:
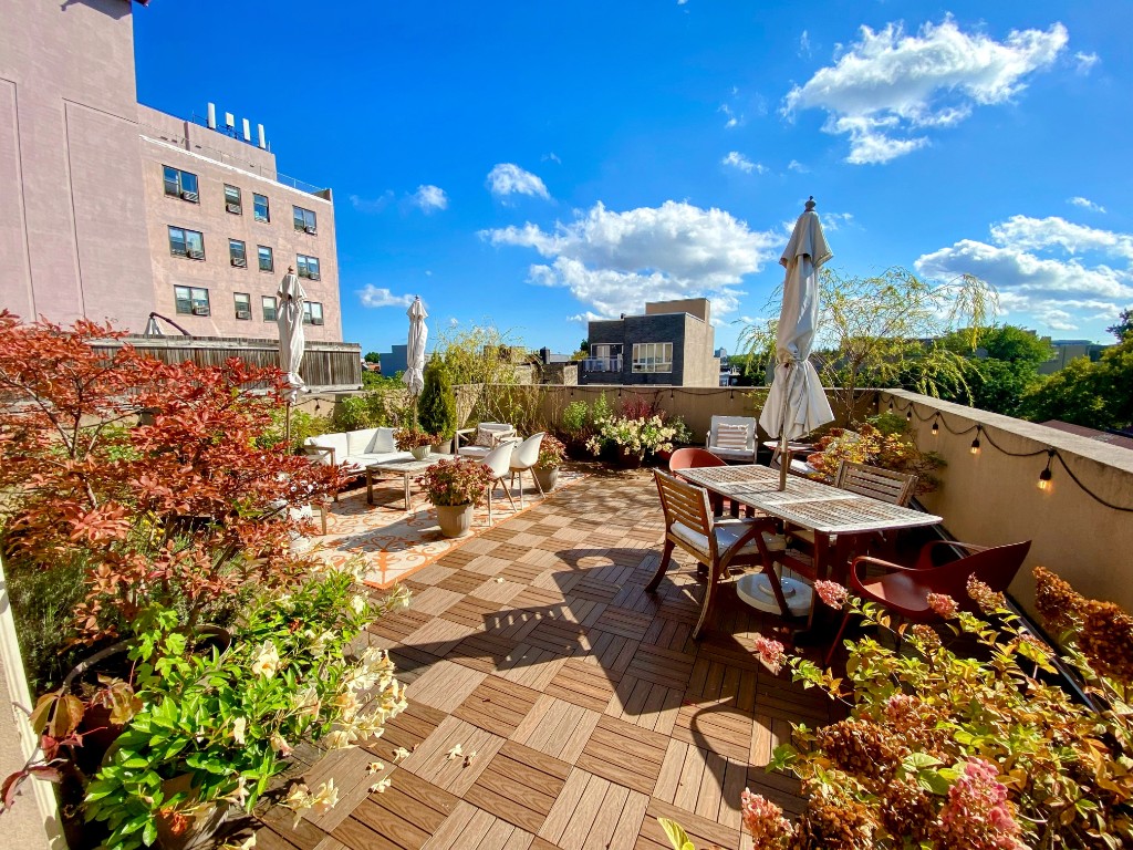
[[[661,539],[651,476],[597,474],[411,576],[411,606],[369,636],[408,711],[359,749],[313,757],[305,780],[333,777],[338,806],[296,830],[270,810],[257,850],[667,848],[657,817],[698,847],[750,850],[740,792],[798,811],[796,783],[764,765],[792,721],[836,709],[755,661],[755,636],[782,623],[729,588],[691,640],[691,561],[645,592]],[[412,753],[394,765],[398,747]]]

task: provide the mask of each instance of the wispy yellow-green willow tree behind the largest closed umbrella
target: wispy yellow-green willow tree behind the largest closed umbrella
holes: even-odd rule
[[[926,396],[971,400],[972,364],[940,343],[968,329],[971,345],[998,307],[995,289],[970,274],[946,282],[893,267],[875,277],[821,270],[821,318],[812,359],[845,422],[857,418],[858,391],[903,386]],[[774,292],[766,309],[778,307]],[[748,325],[740,335],[755,362],[775,351],[775,321]]]

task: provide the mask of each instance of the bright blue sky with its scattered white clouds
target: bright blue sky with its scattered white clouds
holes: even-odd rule
[[[343,333],[713,299],[732,349],[818,201],[833,267],[995,284],[1000,322],[1107,340],[1133,305],[1126,2],[135,6],[138,99],[267,129],[334,190]]]

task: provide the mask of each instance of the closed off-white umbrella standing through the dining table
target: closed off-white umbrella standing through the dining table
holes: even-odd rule
[[[786,490],[791,465],[787,441],[834,420],[821,381],[809,359],[818,330],[818,270],[832,256],[811,196],[780,258],[786,266],[786,278],[775,342],[777,365],[770,394],[759,415],[764,431],[780,440],[780,490]]]

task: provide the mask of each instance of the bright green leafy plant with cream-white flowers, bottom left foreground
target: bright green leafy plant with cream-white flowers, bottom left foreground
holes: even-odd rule
[[[332,570],[289,594],[261,594],[223,651],[188,652],[174,612],[145,612],[129,654],[135,681],[119,683],[128,691],[119,704],[130,706],[125,729],[86,785],[84,816],[109,831],[100,847],[129,850],[159,833],[182,834],[218,804],[250,811],[299,741],[350,747],[404,708],[389,655],[376,647],[351,655],[348,646],[408,594],[375,603],[355,590],[355,578]],[[40,707],[58,717],[68,699],[48,695]],[[301,811],[335,796],[326,785],[286,805]]]

